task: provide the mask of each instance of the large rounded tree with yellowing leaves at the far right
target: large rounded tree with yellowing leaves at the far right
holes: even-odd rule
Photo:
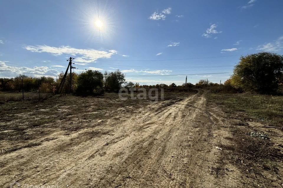
[[[282,79],[283,56],[260,52],[241,56],[231,77],[231,84],[244,90],[269,93],[278,89]]]

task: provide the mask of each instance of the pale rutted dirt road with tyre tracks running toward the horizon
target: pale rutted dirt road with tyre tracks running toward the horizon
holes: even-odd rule
[[[237,187],[241,173],[221,158],[229,136],[223,113],[205,93],[175,98],[39,146],[0,156],[0,187]],[[226,166],[225,166],[226,165]],[[219,168],[233,169],[218,176]],[[15,185],[14,185],[15,186]],[[15,186],[16,187],[16,186]],[[241,186],[239,186],[241,187]]]

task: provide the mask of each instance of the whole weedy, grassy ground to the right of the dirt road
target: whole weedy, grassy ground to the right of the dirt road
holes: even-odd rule
[[[283,96],[208,93],[207,98],[210,106],[225,113],[233,135],[224,138],[228,144],[221,145],[223,159],[245,173],[251,182],[257,180],[271,185],[274,177],[280,179]],[[266,135],[266,140],[251,136],[251,132]]]

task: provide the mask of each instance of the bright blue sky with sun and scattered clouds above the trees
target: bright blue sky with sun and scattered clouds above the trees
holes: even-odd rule
[[[185,75],[219,83],[240,55],[283,50],[283,1],[10,0],[0,7],[1,77],[56,76],[72,56],[77,72],[120,69],[140,84],[179,85]]]

